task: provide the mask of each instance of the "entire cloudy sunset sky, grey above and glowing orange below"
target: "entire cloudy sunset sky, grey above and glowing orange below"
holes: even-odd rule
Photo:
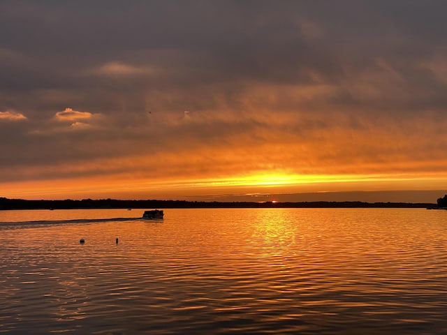
[[[447,193],[446,11],[2,0],[0,196],[435,202]]]

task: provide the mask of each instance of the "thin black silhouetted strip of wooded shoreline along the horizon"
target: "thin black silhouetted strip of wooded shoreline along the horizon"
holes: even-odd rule
[[[436,208],[432,203],[313,201],[313,202],[205,202],[186,200],[23,200],[0,198],[7,209],[144,209],[144,208]]]

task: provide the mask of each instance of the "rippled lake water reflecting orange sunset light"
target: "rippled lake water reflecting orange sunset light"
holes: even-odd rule
[[[447,211],[141,215],[0,211],[0,333],[447,334]]]

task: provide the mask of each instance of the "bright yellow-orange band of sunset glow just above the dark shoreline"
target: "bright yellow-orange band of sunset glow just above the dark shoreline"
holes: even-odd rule
[[[6,198],[24,199],[170,199],[200,195],[309,193],[339,191],[427,190],[447,188],[439,175],[393,174],[286,174],[258,173],[221,178],[131,179],[128,176],[85,177],[2,184]]]

